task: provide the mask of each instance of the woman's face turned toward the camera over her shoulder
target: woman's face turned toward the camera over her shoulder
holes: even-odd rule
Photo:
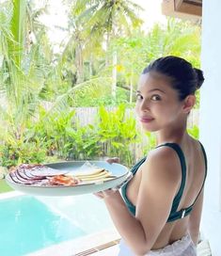
[[[145,131],[155,132],[176,125],[182,105],[168,77],[158,72],[141,75],[135,112]]]

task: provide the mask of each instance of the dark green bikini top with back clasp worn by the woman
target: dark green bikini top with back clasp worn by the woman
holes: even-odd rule
[[[200,142],[199,142],[200,143]],[[202,146],[202,144],[200,143],[200,146],[201,146],[201,149],[202,149],[202,152],[203,152],[203,155],[204,155],[204,159],[205,159],[205,177],[204,177],[204,181],[203,181],[203,184],[202,184],[202,187],[200,188],[200,191],[197,195],[197,198],[196,200],[193,202],[193,204],[191,204],[189,207],[187,208],[183,208],[182,210],[180,211],[177,211],[178,209],[178,206],[180,204],[180,201],[182,199],[182,193],[183,193],[183,190],[184,190],[184,186],[185,186],[185,181],[186,181],[186,164],[185,164],[185,157],[184,157],[184,154],[182,152],[182,149],[181,147],[177,144],[177,143],[165,143],[165,144],[162,144],[162,145],[159,145],[157,146],[156,148],[159,148],[159,147],[163,147],[163,146],[166,146],[166,147],[169,147],[171,149],[173,149],[175,152],[177,152],[179,158],[180,158],[180,161],[181,161],[181,165],[182,165],[182,183],[181,183],[181,187],[177,193],[177,195],[175,196],[174,200],[173,200],[173,203],[172,203],[172,208],[171,208],[171,211],[170,211],[170,214],[168,216],[168,219],[166,222],[171,222],[171,221],[174,221],[174,220],[177,220],[179,218],[182,218],[184,216],[188,216],[191,211],[193,210],[193,206],[195,204],[195,202],[197,201],[197,198],[204,186],[204,183],[205,183],[205,180],[206,180],[206,175],[207,175],[207,156],[206,156],[206,152]],[[137,162],[134,166],[134,168],[131,169],[133,175],[136,173],[136,171],[138,170],[138,168],[145,162],[146,160],[146,156],[144,158],[142,158],[139,162]],[[126,191],[127,191],[127,184],[124,184],[121,188],[121,195],[127,205],[127,208],[129,209],[129,211],[135,216],[135,206],[134,204],[132,204],[132,202],[130,200],[128,200],[127,198],[127,195],[126,195]]]

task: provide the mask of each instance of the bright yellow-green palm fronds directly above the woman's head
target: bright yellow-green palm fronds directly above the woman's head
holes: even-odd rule
[[[200,26],[197,24],[169,18],[166,26],[155,24],[147,35],[136,31],[132,36],[122,37],[113,43],[118,51],[123,52],[118,59],[118,69],[130,85],[130,102],[139,73],[152,59],[182,56],[199,67]]]

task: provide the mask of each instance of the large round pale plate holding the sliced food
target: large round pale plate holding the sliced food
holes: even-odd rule
[[[55,164],[48,164],[46,166],[56,170],[67,170],[74,175],[74,171],[78,171],[86,162],[85,161],[70,161],[70,162],[62,162]],[[35,184],[19,184],[15,183],[11,180],[10,176],[7,175],[6,181],[9,186],[14,188],[15,190],[22,191],[27,194],[32,194],[36,196],[74,196],[74,195],[82,195],[88,193],[95,193],[99,191],[103,191],[108,188],[118,187],[120,184],[131,178],[131,172],[128,171],[128,168],[119,165],[119,164],[108,164],[105,161],[89,161],[90,164],[95,165],[99,168],[105,168],[112,172],[116,178],[99,182],[99,183],[90,183],[90,184],[76,184],[76,185],[35,185]]]

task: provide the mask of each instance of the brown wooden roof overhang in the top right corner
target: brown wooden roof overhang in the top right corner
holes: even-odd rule
[[[162,13],[188,20],[200,20],[202,16],[202,0],[163,0]]]

